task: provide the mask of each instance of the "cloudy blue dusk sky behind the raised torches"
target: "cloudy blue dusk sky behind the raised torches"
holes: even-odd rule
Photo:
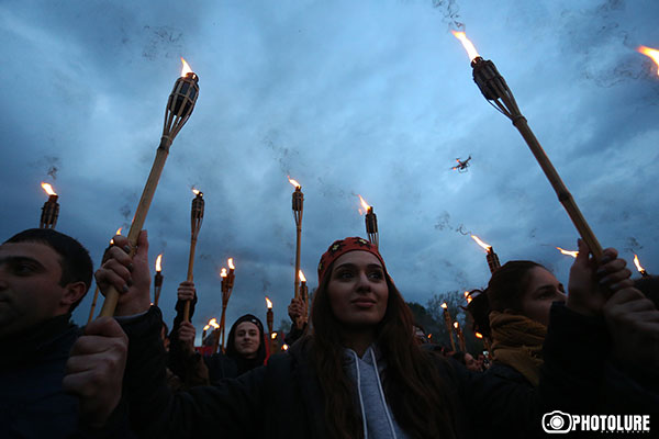
[[[153,3],[153,4],[152,4]],[[492,59],[605,246],[659,271],[659,48],[654,0],[0,2],[3,239],[38,225],[60,195],[57,229],[98,264],[129,226],[183,56],[200,78],[147,222],[164,254],[161,308],[186,278],[190,188],[204,192],[194,278],[198,330],[219,317],[219,269],[236,261],[227,318],[286,318],[293,291],[290,175],[305,195],[302,269],[365,235],[410,301],[482,286],[483,250],[532,259],[567,282],[577,233],[510,121],[471,79],[450,30]],[[450,167],[471,155],[468,172]],[[125,228],[124,228],[125,230]],[[466,235],[467,234],[467,235]],[[75,313],[85,323],[91,294]]]

